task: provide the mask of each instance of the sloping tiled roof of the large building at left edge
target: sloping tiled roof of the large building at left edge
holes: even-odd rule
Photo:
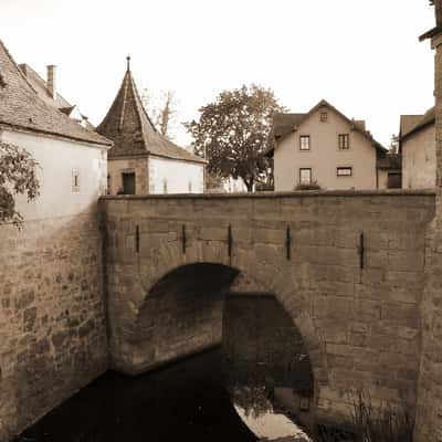
[[[0,126],[34,131],[87,144],[112,146],[112,141],[87,130],[46,104],[0,41]]]

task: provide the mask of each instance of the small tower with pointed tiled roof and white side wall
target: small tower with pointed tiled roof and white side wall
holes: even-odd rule
[[[119,91],[97,131],[114,141],[108,188],[116,193],[194,193],[204,188],[204,160],[161,135],[141,103],[127,56]]]

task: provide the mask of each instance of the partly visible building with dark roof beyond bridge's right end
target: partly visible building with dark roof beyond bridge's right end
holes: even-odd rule
[[[424,115],[401,115],[399,150],[402,156],[402,187],[435,187],[435,115],[434,107]]]

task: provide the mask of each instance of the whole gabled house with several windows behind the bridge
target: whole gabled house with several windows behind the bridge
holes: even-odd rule
[[[388,172],[378,170],[387,150],[365,122],[347,118],[326,101],[306,114],[277,114],[273,131],[276,191],[387,187]]]

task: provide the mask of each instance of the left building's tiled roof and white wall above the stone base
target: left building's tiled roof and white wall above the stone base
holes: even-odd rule
[[[112,141],[60,112],[53,97],[43,99],[1,42],[0,62],[0,141],[39,162],[40,197],[28,203],[18,196],[19,211],[24,220],[84,213],[106,192]]]

